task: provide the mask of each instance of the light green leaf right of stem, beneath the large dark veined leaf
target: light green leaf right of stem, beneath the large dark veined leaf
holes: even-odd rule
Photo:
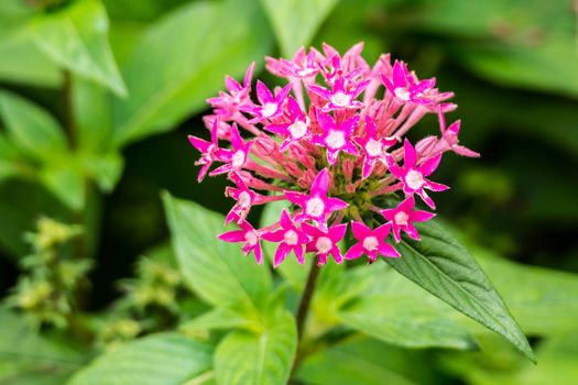
[[[384,342],[407,348],[475,349],[469,332],[436,306],[413,296],[364,297],[339,312],[342,322]]]

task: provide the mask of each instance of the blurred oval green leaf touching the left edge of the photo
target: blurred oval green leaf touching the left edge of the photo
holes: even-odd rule
[[[56,120],[44,109],[9,92],[0,92],[0,113],[9,138],[29,156],[52,162],[68,152]]]

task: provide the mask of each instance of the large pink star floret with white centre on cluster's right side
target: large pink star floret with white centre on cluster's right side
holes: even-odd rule
[[[395,160],[391,155],[386,157],[390,172],[397,179],[402,180],[405,195],[413,195],[415,193],[422,197],[427,206],[435,209],[436,206],[434,201],[425,193],[424,188],[432,191],[444,191],[449,188],[446,185],[426,179],[426,177],[432,175],[439,165],[441,155],[436,155],[417,166],[416,152],[408,140],[405,140],[403,144],[403,168],[397,166]]]

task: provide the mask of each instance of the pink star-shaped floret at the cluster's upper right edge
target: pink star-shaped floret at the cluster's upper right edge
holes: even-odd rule
[[[395,61],[392,79],[382,74],[381,80],[388,90],[402,102],[410,101],[416,105],[434,103],[426,94],[434,88],[436,79],[417,81],[415,75],[407,70],[407,66],[403,62]]]

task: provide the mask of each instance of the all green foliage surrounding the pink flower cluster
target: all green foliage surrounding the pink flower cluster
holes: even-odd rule
[[[0,383],[577,383],[572,7],[0,1]],[[441,219],[324,266],[301,319],[310,263],[217,240],[186,134],[225,75],[324,41],[435,74],[482,158],[444,160]]]

